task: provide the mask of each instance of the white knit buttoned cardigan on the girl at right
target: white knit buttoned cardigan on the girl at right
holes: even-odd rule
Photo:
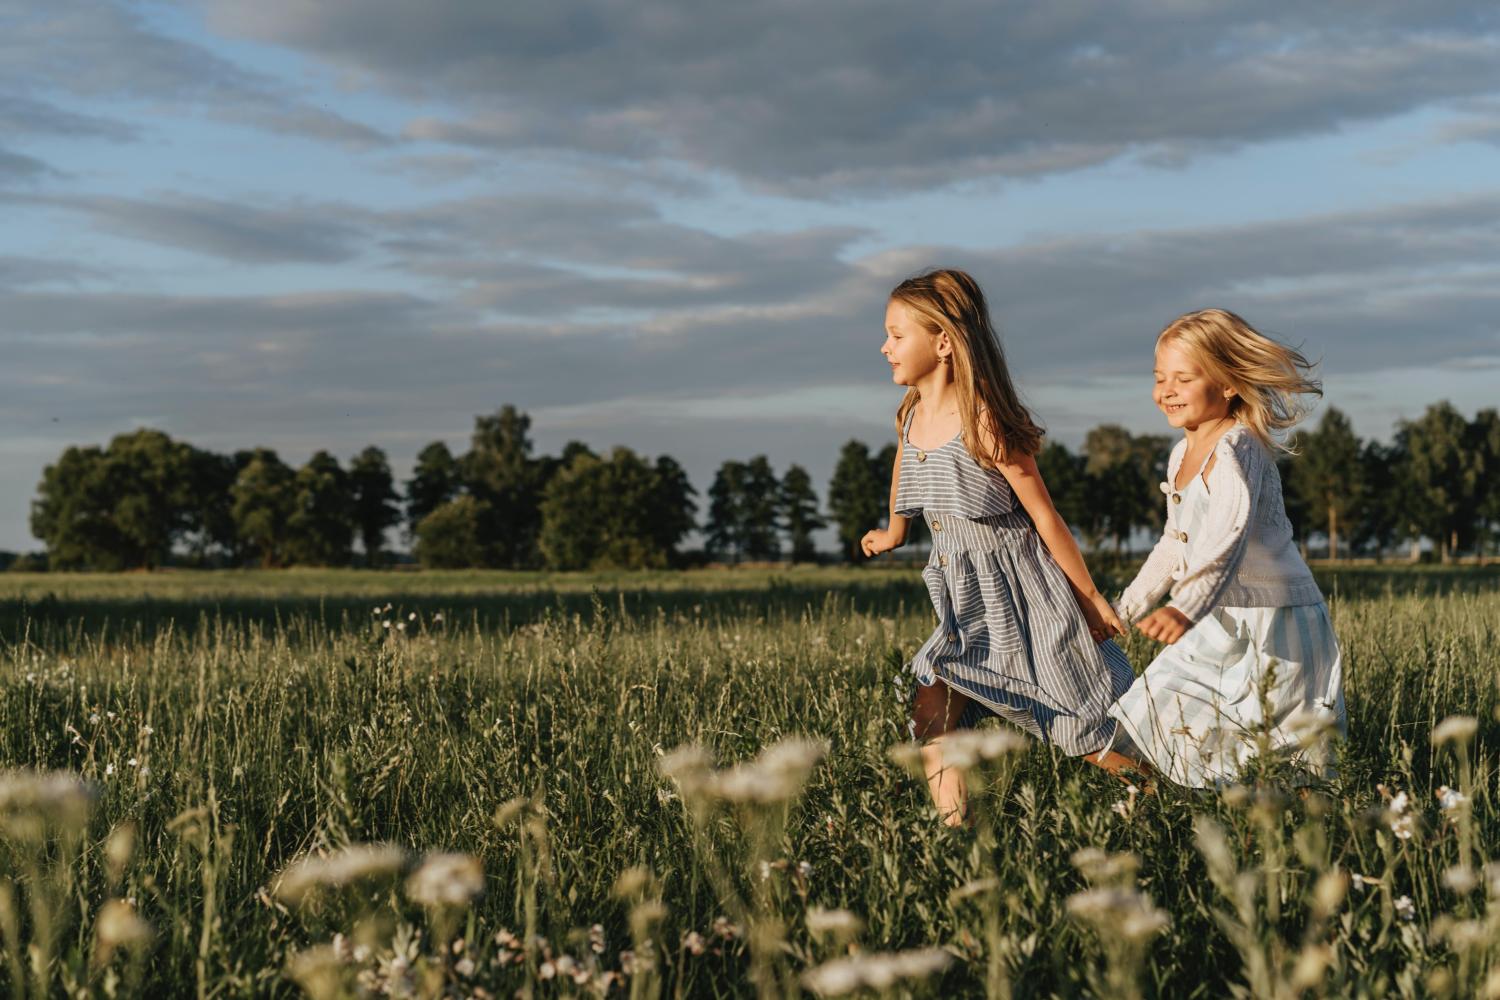
[[[1270,451],[1245,424],[1234,424],[1214,445],[1214,468],[1208,511],[1198,519],[1198,537],[1190,547],[1179,529],[1172,502],[1186,439],[1172,450],[1167,463],[1167,528],[1118,610],[1134,622],[1143,618],[1167,589],[1170,606],[1190,621],[1215,607],[1293,607],[1318,604],[1323,594],[1292,541],[1281,498],[1281,475]]]

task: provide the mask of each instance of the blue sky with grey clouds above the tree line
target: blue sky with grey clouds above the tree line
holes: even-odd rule
[[[1395,0],[0,0],[0,549],[158,427],[398,478],[807,468],[894,435],[885,298],[990,297],[1048,433],[1162,433],[1221,306],[1366,438],[1500,405],[1500,7]],[[1312,420],[1317,420],[1314,414]]]

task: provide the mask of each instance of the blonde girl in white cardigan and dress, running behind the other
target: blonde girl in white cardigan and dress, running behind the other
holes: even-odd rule
[[[1308,370],[1222,309],[1156,337],[1152,399],[1184,436],[1161,484],[1167,529],[1119,610],[1144,615],[1140,630],[1167,649],[1110,714],[1179,784],[1232,780],[1268,748],[1294,753],[1310,724],[1346,729],[1338,642],[1292,543],[1270,451],[1272,432],[1302,418],[1300,399],[1323,394]],[[1172,601],[1146,615],[1168,588]],[[1322,750],[1304,763],[1328,768]]]

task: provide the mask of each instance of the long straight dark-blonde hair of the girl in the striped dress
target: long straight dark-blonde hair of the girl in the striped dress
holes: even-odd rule
[[[891,300],[909,307],[928,333],[948,334],[963,442],[975,460],[993,469],[1008,456],[1036,454],[1041,450],[1042,429],[1016,393],[1011,370],[1005,366],[1005,351],[990,322],[990,307],[978,282],[960,270],[933,270],[908,277],[891,291]],[[906,417],[918,399],[921,393],[915,385],[906,390],[896,411],[897,435],[906,427]],[[981,420],[990,423],[994,442],[990,454],[980,453]]]

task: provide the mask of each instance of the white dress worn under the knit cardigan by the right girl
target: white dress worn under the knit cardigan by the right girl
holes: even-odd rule
[[[1203,475],[1180,493],[1182,531],[1208,535]],[[1191,555],[1188,543],[1185,559]],[[1178,784],[1233,781],[1263,750],[1330,777],[1328,742],[1302,745],[1317,729],[1346,732],[1344,670],[1328,606],[1215,607],[1162,649],[1110,715],[1120,723],[1116,750],[1130,753],[1128,738]]]

